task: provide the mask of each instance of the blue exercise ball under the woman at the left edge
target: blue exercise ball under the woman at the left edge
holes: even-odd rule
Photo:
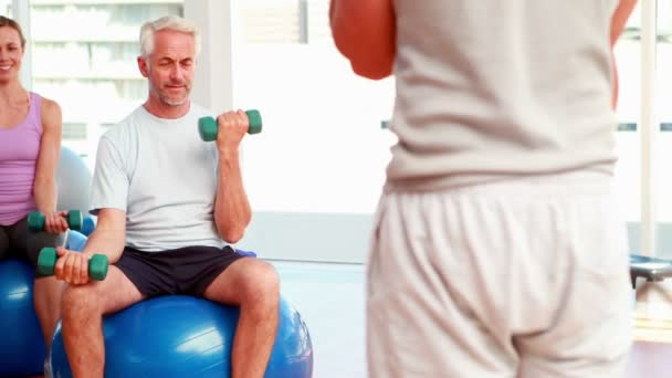
[[[33,309],[33,281],[29,263],[0,262],[0,377],[42,374],[46,347]]]

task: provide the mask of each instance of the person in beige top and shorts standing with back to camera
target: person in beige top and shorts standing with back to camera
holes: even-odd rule
[[[612,46],[634,3],[332,0],[354,72],[397,87],[371,378],[622,376]]]

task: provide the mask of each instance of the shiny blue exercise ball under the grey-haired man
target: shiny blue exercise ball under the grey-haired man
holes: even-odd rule
[[[106,316],[106,377],[230,377],[237,307],[170,295]],[[51,349],[54,378],[72,377],[61,324]],[[313,346],[301,315],[281,297],[280,324],[266,378],[313,375]]]

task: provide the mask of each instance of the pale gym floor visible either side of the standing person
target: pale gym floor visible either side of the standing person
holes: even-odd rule
[[[282,293],[308,326],[316,378],[365,378],[365,267],[272,261]],[[672,280],[633,292],[634,346],[627,378],[672,376]]]

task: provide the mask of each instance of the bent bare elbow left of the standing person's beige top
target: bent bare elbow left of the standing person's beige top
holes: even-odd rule
[[[391,0],[332,0],[332,35],[336,48],[364,77],[392,74],[397,27]]]

